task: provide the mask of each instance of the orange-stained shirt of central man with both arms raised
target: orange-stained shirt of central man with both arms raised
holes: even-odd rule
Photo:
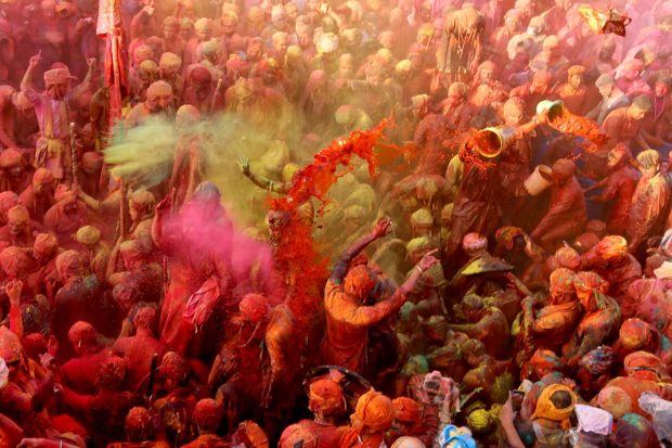
[[[326,309],[326,337],[322,342],[324,362],[362,372],[366,366],[369,328],[397,311],[404,300],[404,294],[397,291],[387,300],[362,306],[344,293],[340,282],[336,283],[329,279],[324,289]]]

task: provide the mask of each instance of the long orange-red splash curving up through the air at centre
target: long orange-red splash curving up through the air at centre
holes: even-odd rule
[[[312,164],[300,169],[292,181],[288,194],[271,201],[271,209],[287,213],[289,220],[277,242],[276,264],[289,283],[287,306],[294,312],[299,328],[309,331],[311,321],[320,306],[320,291],[327,277],[326,260],[321,259],[312,240],[311,223],[301,217],[299,207],[310,197],[325,202],[326,193],[338,180],[336,170],[339,165],[350,167],[356,154],[369,164],[369,174],[375,175],[377,159],[374,146],[383,137],[388,125],[380,121],[370,130],[357,130],[348,138],[341,138],[315,156]]]

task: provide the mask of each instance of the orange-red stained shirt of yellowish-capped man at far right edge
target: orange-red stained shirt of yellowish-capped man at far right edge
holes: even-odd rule
[[[670,185],[661,172],[639,179],[628,219],[628,242],[631,248],[636,249],[647,238],[663,230],[669,204]]]

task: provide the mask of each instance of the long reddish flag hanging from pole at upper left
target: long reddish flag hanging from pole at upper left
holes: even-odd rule
[[[100,0],[96,34],[105,43],[105,86],[109,88],[109,131],[121,119],[121,99],[129,91],[121,1]]]

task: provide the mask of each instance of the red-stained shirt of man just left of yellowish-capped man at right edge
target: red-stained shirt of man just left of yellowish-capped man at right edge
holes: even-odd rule
[[[630,204],[632,203],[632,195],[637,187],[637,171],[629,165],[622,165],[608,175],[607,185],[600,197],[611,201],[609,215],[607,216],[607,231],[609,234],[625,234]]]

